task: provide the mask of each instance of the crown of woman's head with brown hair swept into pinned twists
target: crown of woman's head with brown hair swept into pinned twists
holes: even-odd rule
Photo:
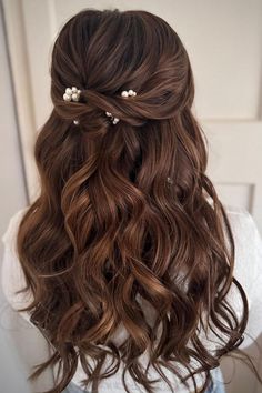
[[[108,128],[104,111],[122,123],[170,119],[193,101],[187,51],[171,27],[147,11],[82,11],[62,28],[54,44],[51,95],[63,119]],[[66,87],[82,90],[81,103],[62,101]],[[138,92],[123,100],[122,90]],[[101,131],[102,132],[102,131]]]

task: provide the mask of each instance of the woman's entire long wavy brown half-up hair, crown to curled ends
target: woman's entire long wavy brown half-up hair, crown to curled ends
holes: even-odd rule
[[[127,392],[127,372],[154,392],[150,366],[172,392],[162,367],[195,392],[202,373],[204,392],[210,371],[243,340],[248,301],[233,276],[230,222],[205,174],[184,46],[150,12],[84,9],[61,28],[50,71],[53,109],[34,149],[40,194],[17,236],[27,283],[19,292],[33,294],[20,310],[53,350],[30,379],[58,363],[48,392],[61,392],[80,361],[94,393],[120,364]],[[80,100],[67,102],[73,85]],[[137,97],[121,97],[129,89]],[[232,285],[241,314],[226,296]],[[216,337],[215,350],[201,331]]]

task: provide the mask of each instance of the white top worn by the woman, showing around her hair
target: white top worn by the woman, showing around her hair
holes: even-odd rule
[[[1,284],[3,293],[7,298],[7,301],[10,303],[12,309],[20,308],[28,302],[31,302],[31,296],[26,299],[24,294],[14,295],[14,291],[24,286],[24,276],[21,270],[21,265],[19,263],[17,253],[16,253],[16,233],[18,229],[18,224],[27,208],[18,211],[11,219],[8,225],[6,233],[2,236],[2,241],[4,244],[4,254],[1,264]],[[250,316],[249,324],[246,329],[248,335],[251,335],[252,339],[256,339],[262,333],[262,240],[259,234],[258,228],[253,218],[243,209],[230,208],[226,206],[226,212],[229,214],[230,223],[232,226],[234,241],[235,241],[235,268],[234,268],[234,276],[242,284],[248,299],[250,306]],[[236,312],[241,312],[241,308],[239,303],[239,299],[234,290],[230,291],[229,296],[231,296],[231,303],[234,303]],[[144,308],[145,315],[148,318],[152,318],[152,310],[148,306],[147,303],[142,302],[142,306]],[[33,329],[37,329],[29,320],[29,314],[27,312],[20,313]],[[30,329],[28,330],[30,334]],[[124,329],[119,330],[114,340],[120,342],[125,336]],[[202,340],[212,340],[213,337],[209,336],[202,337]],[[44,339],[46,340],[46,339]],[[248,346],[252,343],[252,341],[246,337],[242,347]],[[210,349],[215,349],[215,344],[208,343]],[[36,349],[37,350],[37,349]],[[27,354],[24,353],[24,359]],[[144,356],[141,356],[141,360]],[[90,360],[91,362],[91,360]],[[33,365],[33,364],[32,364]],[[172,385],[177,385],[177,379],[167,370],[164,371],[170,381],[172,381]],[[56,373],[54,373],[56,374]],[[122,367],[120,367],[119,372],[114,374],[112,377],[107,379],[101,382],[99,391],[101,393],[105,392],[123,392],[123,385],[121,382]],[[150,374],[152,377],[159,377],[155,373]],[[72,382],[80,385],[80,381],[84,379],[84,372],[79,364],[78,370],[72,379]],[[132,379],[127,373],[127,382],[132,392],[143,392],[142,389],[138,387],[137,384],[132,381]],[[199,384],[201,385],[201,377],[199,377]],[[164,382],[161,382],[159,385],[158,392],[168,392],[169,389]],[[175,392],[182,393],[185,392],[183,386],[179,386],[175,389]]]

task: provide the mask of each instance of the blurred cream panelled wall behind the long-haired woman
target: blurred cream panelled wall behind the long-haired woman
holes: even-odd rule
[[[88,7],[144,9],[178,32],[195,78],[193,110],[209,141],[208,174],[221,200],[246,209],[262,233],[262,0],[2,0],[0,4],[1,234],[10,216],[38,191],[33,144],[52,108],[53,41],[61,26]],[[2,310],[2,294],[0,301]],[[2,391],[29,392],[4,329],[0,329],[0,347]],[[251,345],[248,351],[262,373],[258,349]],[[228,393],[262,391],[240,362],[224,360],[223,373],[231,381]]]

